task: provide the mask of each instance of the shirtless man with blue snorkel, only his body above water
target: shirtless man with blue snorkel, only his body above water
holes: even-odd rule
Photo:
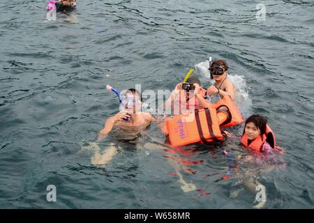
[[[117,138],[136,139],[142,130],[145,130],[153,121],[151,114],[140,112],[142,96],[135,89],[128,89],[121,97],[120,112],[108,118],[105,127],[100,130],[98,139],[103,139],[112,129],[119,129]]]

